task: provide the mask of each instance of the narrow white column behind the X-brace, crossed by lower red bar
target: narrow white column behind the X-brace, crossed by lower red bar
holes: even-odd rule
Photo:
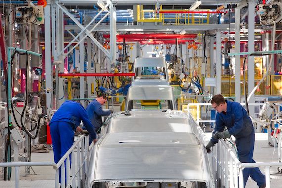
[[[79,40],[81,41],[83,38],[83,34],[79,36]],[[83,73],[84,72],[84,40],[82,40],[79,44],[79,72]],[[81,76],[79,78],[79,94],[80,98],[84,98],[84,92],[85,92],[85,84],[84,84],[84,78]],[[81,101],[83,104],[84,102]],[[83,105],[84,106],[84,105]]]

